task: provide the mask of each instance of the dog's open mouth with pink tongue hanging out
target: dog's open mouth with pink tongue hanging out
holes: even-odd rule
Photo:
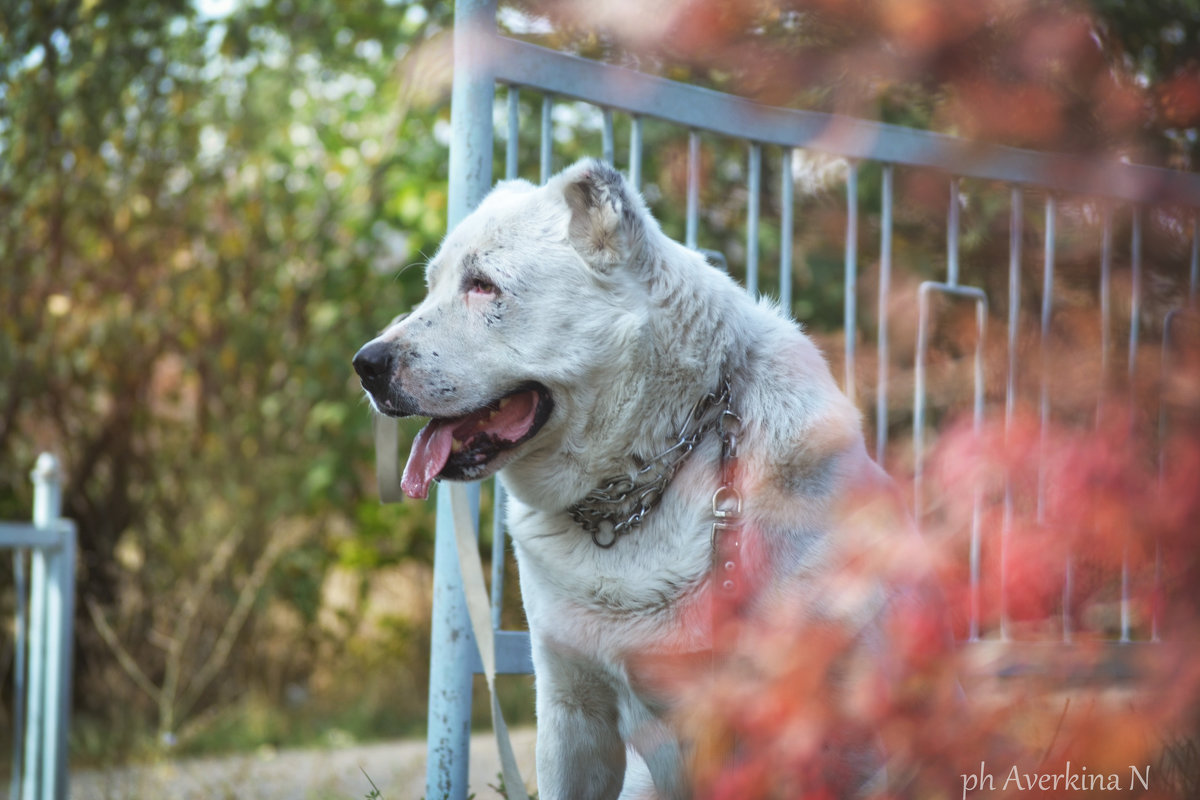
[[[498,456],[541,429],[553,408],[545,386],[524,384],[476,411],[430,420],[413,440],[401,488],[410,498],[424,499],[434,479],[485,477]]]

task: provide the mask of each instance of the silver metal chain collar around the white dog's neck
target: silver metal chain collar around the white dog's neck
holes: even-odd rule
[[[704,419],[714,408],[720,408],[721,413]],[[730,410],[730,381],[722,379],[720,391],[704,395],[692,408],[673,445],[649,459],[632,476],[611,477],[588,492],[566,510],[571,519],[592,535],[596,547],[607,549],[616,545],[624,534],[641,525],[646,515],[662,500],[667,483],[704,434],[718,426],[724,431],[726,415],[737,419]],[[643,476],[649,477],[641,480]],[[605,529],[607,537],[601,535]]]

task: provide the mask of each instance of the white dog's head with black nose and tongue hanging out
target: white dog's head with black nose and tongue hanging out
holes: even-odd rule
[[[620,174],[584,161],[542,187],[498,185],[446,236],[425,300],[354,356],[377,411],[431,417],[407,494],[486,477],[577,410],[568,390],[602,380],[635,336],[648,224]]]

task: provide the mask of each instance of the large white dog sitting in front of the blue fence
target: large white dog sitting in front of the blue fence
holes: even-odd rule
[[[665,236],[600,162],[499,184],[427,284],[354,366],[379,413],[432,417],[409,495],[503,469],[540,796],[632,796],[628,750],[654,794],[690,796],[677,681],[709,663],[714,619],[877,630],[887,594],[827,579],[854,498],[887,482],[857,409],[797,325]]]

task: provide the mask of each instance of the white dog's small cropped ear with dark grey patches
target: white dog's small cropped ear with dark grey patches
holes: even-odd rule
[[[611,272],[640,246],[644,216],[619,172],[602,161],[581,161],[559,175],[571,212],[571,246],[594,270]]]

